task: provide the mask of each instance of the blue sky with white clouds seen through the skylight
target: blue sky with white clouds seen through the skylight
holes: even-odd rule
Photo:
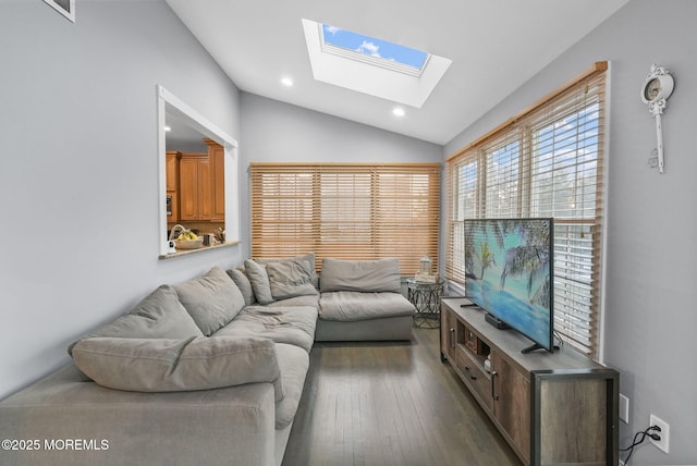
[[[370,57],[395,61],[420,70],[428,58],[428,53],[420,50],[388,42],[376,37],[364,36],[351,30],[322,24],[325,44],[342,49],[356,51]]]

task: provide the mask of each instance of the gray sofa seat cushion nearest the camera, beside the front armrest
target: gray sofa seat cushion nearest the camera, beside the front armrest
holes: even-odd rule
[[[295,418],[303,396],[305,377],[309,368],[309,354],[297,346],[283,343],[277,344],[276,351],[285,389],[283,400],[276,402],[276,428],[283,429]]]

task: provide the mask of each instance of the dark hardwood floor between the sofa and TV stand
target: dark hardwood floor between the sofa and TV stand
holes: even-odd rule
[[[316,343],[283,466],[519,466],[438,329],[411,343]]]

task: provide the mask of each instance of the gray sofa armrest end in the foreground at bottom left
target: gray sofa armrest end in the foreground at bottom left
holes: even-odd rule
[[[0,438],[39,441],[0,452],[15,466],[273,465],[273,385],[124,392],[71,365],[0,403]]]

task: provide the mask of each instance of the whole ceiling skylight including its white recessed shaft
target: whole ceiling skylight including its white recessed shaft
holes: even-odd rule
[[[375,37],[303,20],[317,81],[420,108],[451,60]]]

